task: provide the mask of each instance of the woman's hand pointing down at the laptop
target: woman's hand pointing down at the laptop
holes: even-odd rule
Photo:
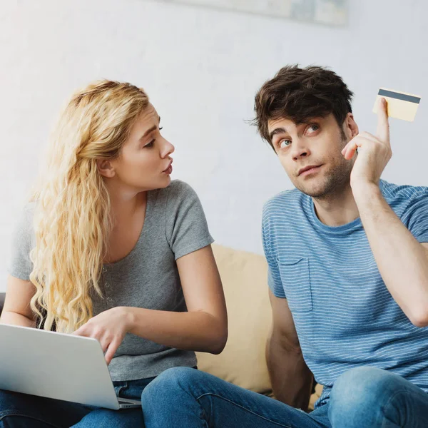
[[[123,337],[131,328],[130,315],[126,307],[113,307],[101,312],[82,325],[73,335],[93,337],[101,343],[106,362],[110,364]]]

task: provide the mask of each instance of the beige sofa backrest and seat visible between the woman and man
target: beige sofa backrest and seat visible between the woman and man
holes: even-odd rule
[[[225,290],[229,338],[220,355],[198,352],[198,368],[240,387],[272,394],[265,344],[272,321],[267,293],[267,264],[262,255],[213,245]],[[310,409],[320,396],[320,385]]]

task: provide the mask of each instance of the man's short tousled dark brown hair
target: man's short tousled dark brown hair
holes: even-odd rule
[[[310,118],[335,116],[342,129],[347,113],[352,113],[354,94],[334,71],[319,66],[285,66],[265,82],[255,96],[253,123],[270,146],[267,122],[287,118],[305,123]]]

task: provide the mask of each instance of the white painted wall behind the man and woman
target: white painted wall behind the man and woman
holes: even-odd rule
[[[331,66],[374,132],[379,86],[428,96],[428,2],[350,0],[345,29],[143,0],[2,0],[0,4],[0,291],[14,218],[58,108],[96,78],[143,86],[175,144],[218,243],[262,253],[263,202],[290,181],[244,120],[258,87],[286,63]],[[427,185],[427,100],[392,120],[384,178]]]

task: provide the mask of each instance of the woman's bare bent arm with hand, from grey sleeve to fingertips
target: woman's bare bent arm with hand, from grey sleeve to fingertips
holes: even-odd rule
[[[177,260],[188,312],[115,307],[76,330],[95,337],[110,362],[127,332],[181,350],[220,353],[228,337],[223,287],[211,246]]]

